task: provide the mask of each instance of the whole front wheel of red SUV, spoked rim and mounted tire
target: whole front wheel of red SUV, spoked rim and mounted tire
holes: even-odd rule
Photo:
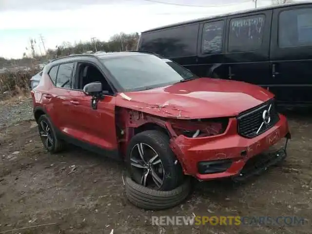
[[[184,179],[169,137],[156,130],[138,133],[129,142],[126,163],[135,182],[155,190],[177,188]]]

